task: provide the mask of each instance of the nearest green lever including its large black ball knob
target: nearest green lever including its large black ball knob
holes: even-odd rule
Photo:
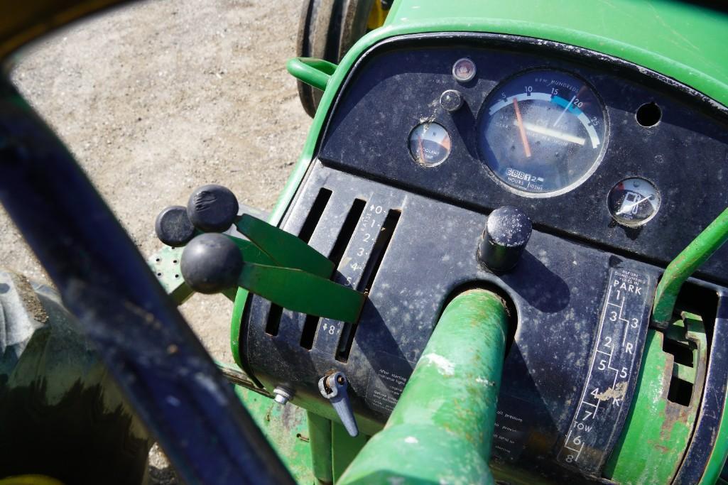
[[[245,261],[239,246],[223,234],[207,233],[186,245],[182,276],[199,293],[235,285],[295,312],[355,323],[366,296],[303,269]]]

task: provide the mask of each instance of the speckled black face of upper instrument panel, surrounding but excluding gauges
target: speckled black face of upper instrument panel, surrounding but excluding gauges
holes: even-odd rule
[[[463,57],[478,68],[466,84],[451,75],[454,61]],[[533,68],[585,79],[604,102],[609,122],[603,159],[593,175],[570,192],[547,198],[508,189],[478,151],[486,98],[501,82]],[[439,103],[450,89],[464,98],[454,113]],[[638,124],[636,111],[645,103],[660,106],[657,125]],[[563,44],[487,34],[403,36],[360,60],[333,110],[319,153],[325,164],[477,210],[514,205],[538,229],[630,258],[667,264],[728,206],[724,107],[644,68]],[[437,166],[418,164],[408,149],[409,133],[424,121],[443,125],[451,136],[451,154]],[[614,223],[606,204],[614,184],[631,176],[652,181],[662,196],[660,212],[638,229]],[[728,247],[701,272],[728,283]]]

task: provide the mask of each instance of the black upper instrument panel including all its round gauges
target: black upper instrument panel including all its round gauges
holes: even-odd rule
[[[726,119],[700,93],[571,46],[405,36],[358,61],[318,158],[667,264],[728,205]],[[727,283],[728,248],[702,272]]]

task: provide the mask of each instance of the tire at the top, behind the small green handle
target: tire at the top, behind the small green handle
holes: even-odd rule
[[[298,25],[296,56],[338,64],[366,33],[375,0],[304,0]],[[379,0],[376,0],[379,1]],[[298,81],[298,98],[304,111],[314,117],[323,93]]]

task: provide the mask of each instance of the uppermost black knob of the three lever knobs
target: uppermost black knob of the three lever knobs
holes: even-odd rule
[[[209,184],[198,187],[187,201],[187,216],[202,232],[223,232],[237,216],[237,198],[230,189]]]

